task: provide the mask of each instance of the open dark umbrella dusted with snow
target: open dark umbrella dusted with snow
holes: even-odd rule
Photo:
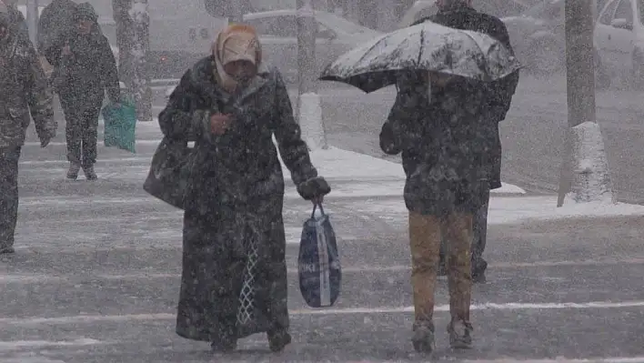
[[[489,82],[519,68],[508,48],[489,35],[425,22],[350,50],[327,66],[319,79],[343,82],[369,93],[395,84],[408,71]]]

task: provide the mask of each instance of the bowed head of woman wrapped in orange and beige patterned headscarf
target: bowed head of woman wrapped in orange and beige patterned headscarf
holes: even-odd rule
[[[257,76],[262,50],[257,32],[249,25],[229,25],[219,33],[213,45],[216,79],[226,91],[247,86]]]

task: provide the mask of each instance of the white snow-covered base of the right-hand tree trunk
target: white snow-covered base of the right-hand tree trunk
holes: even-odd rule
[[[599,124],[584,122],[572,128],[574,176],[572,199],[577,203],[613,203],[609,163]]]

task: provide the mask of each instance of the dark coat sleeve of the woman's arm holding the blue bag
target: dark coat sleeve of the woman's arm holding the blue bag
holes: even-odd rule
[[[317,169],[311,163],[307,143],[302,139],[301,129],[293,116],[293,107],[288,97],[287,86],[282,76],[275,71],[277,115],[273,132],[277,139],[279,154],[291,172],[296,186],[317,176]]]

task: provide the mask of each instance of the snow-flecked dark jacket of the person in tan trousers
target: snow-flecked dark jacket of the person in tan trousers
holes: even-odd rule
[[[474,213],[482,206],[481,187],[489,177],[490,153],[481,136],[484,89],[459,78],[434,87],[431,102],[422,75],[400,82],[396,102],[380,133],[380,147],[402,152],[410,211],[444,216]]]

